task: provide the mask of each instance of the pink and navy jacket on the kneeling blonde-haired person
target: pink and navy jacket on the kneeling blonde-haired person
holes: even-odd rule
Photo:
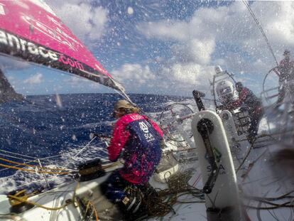
[[[146,116],[132,113],[117,120],[108,153],[110,161],[124,158],[122,178],[135,184],[148,182],[160,161],[162,136],[156,122]]]

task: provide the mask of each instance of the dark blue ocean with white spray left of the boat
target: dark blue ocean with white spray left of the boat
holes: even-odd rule
[[[153,117],[160,116],[168,104],[187,100],[160,95],[130,97]],[[89,144],[90,134],[111,134],[115,122],[111,112],[117,99],[121,99],[117,94],[38,95],[28,96],[22,102],[0,104],[0,163],[16,166],[3,159],[30,163],[40,158],[43,166],[75,168],[91,158],[107,161],[104,141],[97,138]],[[70,177],[51,176],[48,183],[55,185],[66,180]],[[0,166],[0,193],[25,185],[42,188],[47,184],[39,173]]]

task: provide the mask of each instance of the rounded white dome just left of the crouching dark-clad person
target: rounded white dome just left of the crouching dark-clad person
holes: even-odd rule
[[[216,90],[217,96],[222,104],[238,99],[238,94],[235,90],[234,84],[229,80],[222,80],[221,82],[218,82]]]

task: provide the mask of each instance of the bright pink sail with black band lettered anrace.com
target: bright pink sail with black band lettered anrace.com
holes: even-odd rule
[[[124,92],[42,1],[0,0],[0,53],[64,70]]]

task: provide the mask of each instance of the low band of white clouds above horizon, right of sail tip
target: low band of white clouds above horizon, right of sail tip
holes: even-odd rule
[[[128,63],[111,73],[124,84],[127,92],[191,95],[195,88],[209,91],[207,85],[213,72],[214,67],[203,68],[195,63],[162,65],[158,70],[152,70],[148,65]]]

